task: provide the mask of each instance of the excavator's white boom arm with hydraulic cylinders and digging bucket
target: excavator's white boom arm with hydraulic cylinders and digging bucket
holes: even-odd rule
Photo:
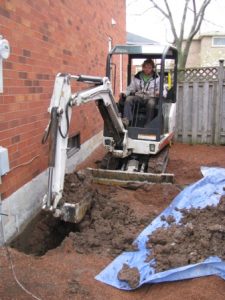
[[[72,93],[71,80],[91,83],[94,84],[94,87]],[[50,155],[48,192],[43,199],[43,208],[53,211],[55,216],[60,216],[66,221],[79,222],[82,218],[81,215],[85,213],[83,212],[85,211],[84,207],[79,209],[76,204],[68,205],[60,203],[64,187],[72,107],[91,101],[97,102],[104,121],[108,122],[111,126],[115,143],[122,143],[126,137],[126,130],[119,116],[108,78],[69,74],[58,74],[56,76],[51,103],[48,109],[51,119],[46,129],[46,135],[50,136]],[[79,212],[82,212],[81,215]]]

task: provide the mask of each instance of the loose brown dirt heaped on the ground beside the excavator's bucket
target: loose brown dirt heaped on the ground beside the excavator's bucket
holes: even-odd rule
[[[74,187],[76,189],[71,192]],[[148,217],[137,218],[128,205],[116,200],[116,187],[103,191],[101,187],[91,184],[89,179],[86,180],[84,175],[82,178],[77,174],[67,175],[64,194],[67,202],[72,202],[74,197],[82,199],[81,195],[86,191],[91,197],[92,207],[78,224],[78,231],[71,232],[64,244],[72,240],[78,253],[100,254],[103,251],[112,256],[135,250],[133,240],[151,222],[154,214],[150,212]]]

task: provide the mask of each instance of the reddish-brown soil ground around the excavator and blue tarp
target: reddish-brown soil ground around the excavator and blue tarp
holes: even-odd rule
[[[78,198],[88,194],[92,209],[81,224],[72,226],[40,214],[29,225],[24,241],[17,239],[14,248],[9,248],[18,279],[40,299],[224,299],[225,282],[214,276],[145,285],[132,292],[94,279],[113,257],[135,248],[133,238],[184,186],[201,178],[200,166],[225,167],[224,150],[223,146],[173,145],[167,171],[175,174],[174,185],[142,185],[130,190],[87,182],[84,188],[86,181],[82,183],[74,174],[66,183],[66,201],[75,194]],[[98,148],[79,168],[94,167],[103,154],[102,147]],[[0,248],[0,299],[32,299],[15,282],[8,256]]]

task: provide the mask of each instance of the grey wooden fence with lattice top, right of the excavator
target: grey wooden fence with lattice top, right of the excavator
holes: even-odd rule
[[[225,144],[224,66],[179,73],[176,108],[177,141]]]

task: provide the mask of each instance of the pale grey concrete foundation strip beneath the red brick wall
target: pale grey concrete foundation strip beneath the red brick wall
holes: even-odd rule
[[[102,132],[83,143],[81,149],[67,160],[66,173],[71,173],[101,141]],[[48,171],[45,170],[1,202],[0,214],[5,215],[0,215],[0,245],[4,244],[4,241],[10,241],[41,210],[47,183]]]

